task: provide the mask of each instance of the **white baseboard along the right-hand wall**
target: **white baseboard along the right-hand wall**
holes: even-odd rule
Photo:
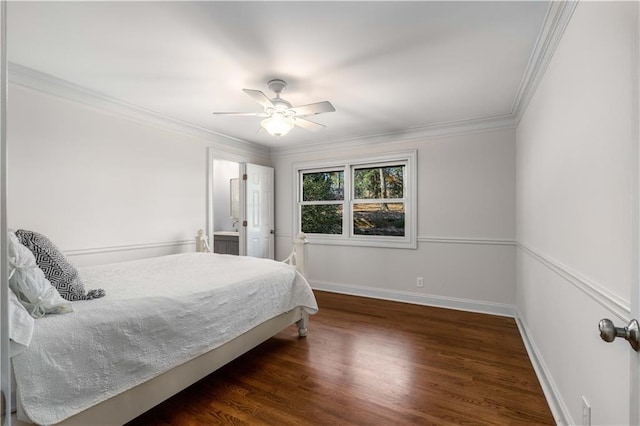
[[[542,391],[544,392],[544,396],[547,399],[547,403],[549,404],[549,408],[551,409],[551,413],[558,425],[573,425],[573,419],[571,418],[571,414],[569,413],[569,409],[564,404],[560,396],[560,392],[558,387],[555,385],[553,381],[553,377],[551,372],[547,368],[540,351],[538,350],[536,344],[533,339],[531,339],[531,333],[529,333],[529,329],[527,325],[522,321],[520,317],[520,313],[516,311],[515,315],[516,324],[518,325],[518,330],[520,330],[520,335],[522,336],[522,341],[524,342],[524,346],[527,349],[527,354],[529,355],[529,359],[531,360],[531,364],[533,365],[533,369],[536,372],[536,376],[538,377],[538,381],[540,382],[540,386],[542,386]]]

